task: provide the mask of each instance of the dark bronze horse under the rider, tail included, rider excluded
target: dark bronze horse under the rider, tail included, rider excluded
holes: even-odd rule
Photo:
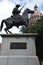
[[[28,13],[33,13],[33,11],[26,8],[25,11],[23,12],[22,16],[19,15],[19,17],[17,16],[17,18],[13,18],[13,16],[10,16],[9,18],[2,20],[1,26],[0,26],[0,31],[3,28],[3,23],[5,23],[5,25],[6,25],[6,28],[4,30],[7,34],[8,34],[8,32],[12,34],[12,32],[10,32],[9,29],[12,28],[13,26],[16,26],[18,28],[19,26],[24,25],[27,28],[27,24],[28,24],[29,20],[27,19],[26,16],[28,16]]]

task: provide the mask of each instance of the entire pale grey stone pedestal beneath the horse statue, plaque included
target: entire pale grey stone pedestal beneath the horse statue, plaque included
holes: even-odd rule
[[[37,33],[1,36],[1,56],[6,59],[4,65],[39,65],[35,48]]]

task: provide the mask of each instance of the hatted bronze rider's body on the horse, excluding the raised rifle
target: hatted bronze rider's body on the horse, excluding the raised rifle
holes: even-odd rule
[[[18,22],[20,18],[20,10],[19,10],[20,5],[16,5],[16,7],[13,9],[12,14],[13,14],[13,22]]]

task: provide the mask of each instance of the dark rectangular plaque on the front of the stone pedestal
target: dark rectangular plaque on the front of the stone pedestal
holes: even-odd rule
[[[10,43],[10,49],[26,49],[27,48],[27,44],[26,43],[15,43],[15,42],[12,42]]]

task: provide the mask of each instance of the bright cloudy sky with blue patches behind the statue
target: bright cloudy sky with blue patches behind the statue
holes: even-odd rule
[[[25,2],[26,2],[26,5],[22,9],[21,13],[26,8],[34,10],[35,4],[37,4],[37,6],[39,7],[38,8],[39,11],[41,11],[43,13],[43,0],[0,0],[0,25],[1,25],[1,21],[3,19],[6,19],[12,15],[12,10],[16,4],[20,4],[22,7]],[[0,34],[6,34],[4,31],[5,27],[6,26],[4,24],[3,30],[0,32]],[[13,28],[11,28],[10,31],[12,31],[12,33],[20,33],[19,29],[15,26]],[[0,41],[1,40],[2,39],[0,38]]]

